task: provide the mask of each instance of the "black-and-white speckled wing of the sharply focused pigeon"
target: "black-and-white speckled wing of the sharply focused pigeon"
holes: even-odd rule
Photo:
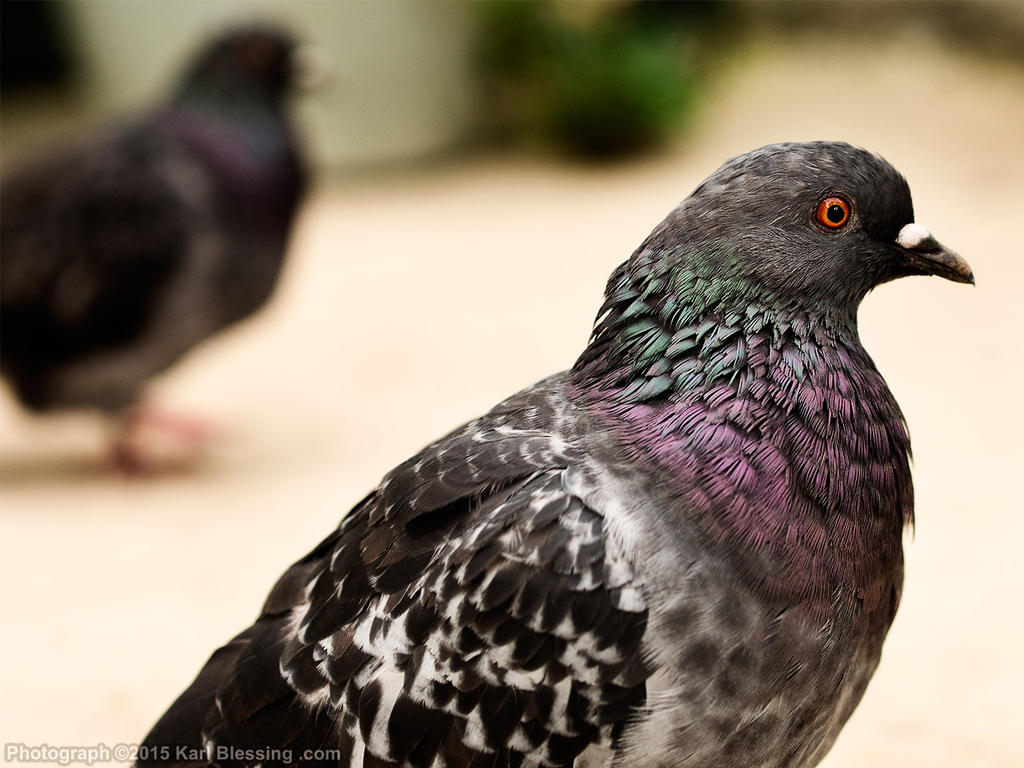
[[[542,385],[397,467],[146,744],[417,767],[612,749],[644,701],[647,608],[601,515],[566,489],[553,418]]]

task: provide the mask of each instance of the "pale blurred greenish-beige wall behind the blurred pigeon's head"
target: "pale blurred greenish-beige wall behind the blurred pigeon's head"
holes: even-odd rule
[[[281,22],[331,60],[329,82],[297,104],[314,162],[407,160],[457,144],[474,127],[469,2],[77,0],[63,11],[97,115],[158,97],[204,38],[259,18]]]

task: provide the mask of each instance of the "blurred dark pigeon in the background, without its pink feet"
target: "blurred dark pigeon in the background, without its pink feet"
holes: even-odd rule
[[[129,415],[267,300],[306,184],[296,53],[278,30],[229,31],[166,103],[3,181],[0,362],[25,406]]]

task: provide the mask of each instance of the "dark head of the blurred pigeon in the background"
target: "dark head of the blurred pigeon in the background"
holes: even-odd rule
[[[231,29],[211,42],[185,74],[183,96],[204,95],[226,100],[257,95],[283,100],[300,83],[301,49],[273,27]]]

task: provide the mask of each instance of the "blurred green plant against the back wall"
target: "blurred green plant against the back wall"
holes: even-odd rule
[[[477,6],[490,127],[583,158],[663,144],[698,88],[697,30],[713,3],[504,0]]]

